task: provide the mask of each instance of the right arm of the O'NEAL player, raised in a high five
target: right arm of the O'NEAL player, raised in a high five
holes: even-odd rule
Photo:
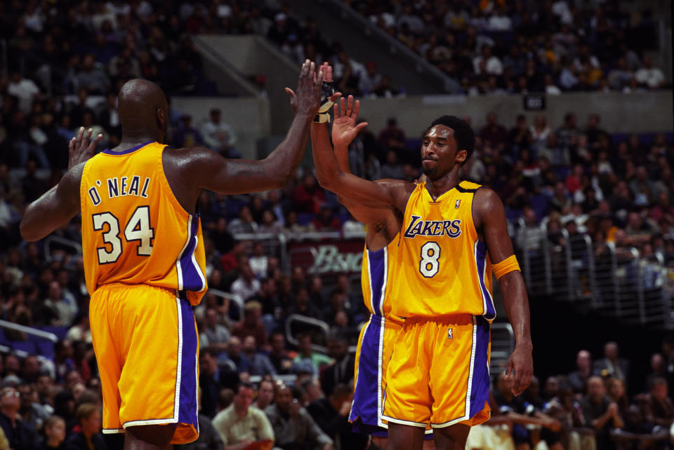
[[[302,64],[297,92],[286,89],[296,111],[285,139],[260,161],[226,159],[209,149],[192,149],[185,155],[183,173],[197,189],[219,193],[249,193],[279,189],[290,181],[309,139],[309,125],[321,104],[321,83],[327,64],[316,74],[315,63]]]

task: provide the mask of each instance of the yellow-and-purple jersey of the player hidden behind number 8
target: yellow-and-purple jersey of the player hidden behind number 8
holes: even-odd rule
[[[392,266],[397,262],[398,238],[391,240],[386,247],[372,252],[363,251],[363,268],[360,276],[360,284],[363,289],[365,307],[371,314],[390,318],[391,301],[390,291],[392,287]],[[399,318],[393,318],[402,322]]]

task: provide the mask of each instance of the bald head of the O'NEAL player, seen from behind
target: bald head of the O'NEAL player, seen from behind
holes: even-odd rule
[[[117,104],[122,140],[147,137],[164,142],[169,105],[156,83],[143,79],[127,81],[119,90]]]

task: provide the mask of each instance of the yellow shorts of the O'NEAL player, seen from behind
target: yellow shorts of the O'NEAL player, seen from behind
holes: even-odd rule
[[[184,294],[104,285],[91,296],[89,320],[103,388],[103,432],[176,423],[171,444],[197,439],[199,343]]]

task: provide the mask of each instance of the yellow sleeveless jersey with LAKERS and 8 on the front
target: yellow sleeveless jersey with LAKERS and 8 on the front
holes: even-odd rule
[[[461,182],[435,201],[425,183],[412,191],[390,283],[393,315],[468,313],[494,320],[491,263],[473,224],[478,188],[480,184]]]

